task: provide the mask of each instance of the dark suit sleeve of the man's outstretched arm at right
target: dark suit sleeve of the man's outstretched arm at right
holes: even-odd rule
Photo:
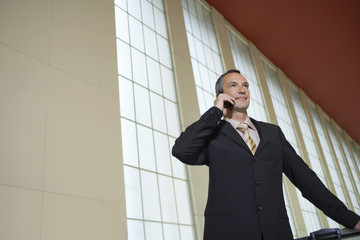
[[[298,156],[280,131],[283,150],[283,171],[301,191],[303,197],[322,210],[328,217],[347,228],[353,229],[360,216],[350,211],[343,202],[332,194],[308,165]]]

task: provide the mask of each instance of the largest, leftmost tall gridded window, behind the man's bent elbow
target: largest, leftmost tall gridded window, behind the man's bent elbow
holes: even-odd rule
[[[116,0],[119,101],[128,239],[194,239],[162,0]]]

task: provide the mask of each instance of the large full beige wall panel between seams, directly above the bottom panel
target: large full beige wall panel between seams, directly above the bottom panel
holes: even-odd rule
[[[49,71],[45,190],[101,199],[98,88]]]

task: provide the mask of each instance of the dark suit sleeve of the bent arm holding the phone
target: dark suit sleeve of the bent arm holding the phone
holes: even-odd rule
[[[222,111],[212,107],[176,139],[172,155],[189,165],[208,164],[207,145],[221,120]]]

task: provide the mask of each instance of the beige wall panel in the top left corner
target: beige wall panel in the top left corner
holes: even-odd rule
[[[0,42],[48,61],[51,0],[0,1]]]

